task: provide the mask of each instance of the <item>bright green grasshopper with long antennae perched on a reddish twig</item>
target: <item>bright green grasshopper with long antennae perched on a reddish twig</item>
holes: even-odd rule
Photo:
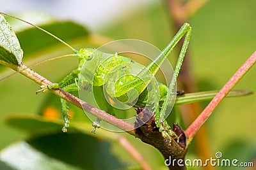
[[[0,13],[1,14],[1,13]],[[2,13],[3,15],[7,15]],[[10,16],[10,15],[8,15]],[[12,17],[12,16],[10,16]],[[13,17],[16,18],[16,17]],[[21,20],[20,18],[17,18],[18,20]],[[26,22],[24,20],[21,20],[22,22]],[[27,24],[33,25],[29,22],[26,22]],[[36,94],[38,92],[47,92],[49,89],[58,89],[61,88],[63,90],[66,90],[67,92],[77,91],[80,89],[86,89],[86,85],[80,87],[77,83],[77,80],[79,78],[79,75],[81,74],[81,69],[83,66],[86,66],[86,62],[89,62],[90,60],[102,60],[103,62],[100,63],[100,65],[97,67],[97,69],[94,71],[93,80],[86,81],[82,80],[82,83],[90,83],[93,87],[102,87],[104,83],[106,83],[105,78],[108,76],[110,72],[115,71],[120,64],[125,64],[127,62],[131,62],[131,59],[127,57],[123,57],[122,55],[118,55],[117,53],[111,54],[111,53],[104,53],[100,50],[92,49],[92,48],[82,48],[81,50],[76,50],[72,46],[65,43],[65,41],[61,40],[60,38],[54,36],[50,32],[45,31],[44,29],[33,25],[37,29],[40,29],[41,31],[44,31],[45,33],[49,34],[53,38],[58,39],[61,43],[71,48],[71,50],[74,52],[74,54],[66,55],[65,57],[72,56],[77,57],[79,59],[78,67],[74,69],[70,74],[68,74],[63,80],[61,80],[59,83],[52,83],[52,85],[42,85],[40,90],[36,91]],[[182,48],[180,50],[179,58],[177,60],[177,65],[175,67],[172,80],[170,82],[169,87],[164,85],[163,83],[157,82],[158,92],[159,92],[159,101],[157,103],[157,108],[154,111],[155,113],[155,122],[157,127],[159,128],[159,131],[163,135],[164,138],[176,138],[179,142],[179,137],[175,134],[175,132],[172,131],[170,125],[164,120],[165,115],[167,114],[166,111],[170,103],[174,103],[173,101],[173,89],[175,88],[175,84],[177,81],[177,77],[179,75],[180,67],[182,66],[182,62],[184,59],[184,56],[186,54],[186,50],[188,48],[189,39],[191,38],[191,27],[188,23],[185,23],[180,27],[179,31],[175,36],[173,37],[172,41],[164,48],[163,52],[161,52],[158,57],[156,57],[155,60],[150,62],[148,66],[146,66],[144,69],[142,69],[137,76],[128,75],[123,78],[119,78],[115,80],[115,85],[113,86],[112,92],[109,92],[110,96],[118,98],[120,101],[127,101],[134,100],[138,98],[138,101],[136,101],[135,107],[143,106],[145,107],[145,103],[147,103],[147,86],[150,83],[150,79],[146,78],[145,81],[141,80],[140,77],[147,77],[148,73],[155,75],[156,72],[159,70],[159,66],[163,64],[164,60],[166,59],[166,56],[169,55],[170,52],[172,52],[173,48],[177,43],[180,41],[180,39],[185,36],[184,43],[182,45]],[[56,57],[57,58],[57,57]],[[124,71],[126,70],[123,67]],[[134,90],[132,92],[131,89],[136,90],[136,94],[134,94]],[[130,98],[129,98],[130,97]],[[63,125],[63,132],[67,132],[67,129],[69,127],[70,117],[68,117],[68,104],[67,101],[64,99],[61,99],[61,106],[63,110],[63,119],[64,119],[64,125]],[[100,127],[100,120],[97,118],[95,122],[93,122],[93,131],[95,132],[96,128]]]

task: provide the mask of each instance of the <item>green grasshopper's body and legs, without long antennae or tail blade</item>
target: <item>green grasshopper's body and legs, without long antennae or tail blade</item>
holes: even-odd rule
[[[163,136],[168,137],[170,139],[171,139],[171,136],[175,136],[175,134],[172,132],[168,123],[164,120],[164,115],[166,114],[165,113],[166,108],[170,103],[170,100],[172,99],[171,97],[173,95],[172,91],[173,91],[173,88],[175,87],[177,76],[179,74],[182,61],[184,59],[186,50],[188,48],[188,43],[191,36],[191,27],[189,26],[189,24],[185,23],[184,25],[182,25],[182,27],[174,36],[172,41],[166,46],[166,48],[164,48],[163,52],[159,54],[156,60],[152,61],[150,64],[148,64],[148,66],[145,69],[140,71],[140,73],[138,73],[138,76],[136,77],[130,76],[129,80],[125,80],[125,82],[116,82],[119,85],[116,85],[115,89],[113,89],[114,90],[113,94],[115,94],[115,97],[123,98],[124,100],[127,100],[127,93],[131,89],[136,89],[139,95],[138,97],[140,97],[140,94],[143,93],[143,91],[146,89],[150,81],[150,80],[142,81],[140,77],[147,76],[148,71],[150,71],[150,73],[152,73],[153,75],[156,74],[156,72],[159,69],[159,66],[166,59],[166,55],[168,55],[173,50],[174,46],[180,41],[180,39],[184,36],[184,34],[186,34],[186,37],[184,40],[184,44],[182,45],[182,49],[181,49],[177,66],[175,68],[175,71],[170,83],[170,87],[168,89],[166,87],[164,89],[165,92],[162,92],[163,94],[166,94],[167,92],[167,94],[166,96],[160,96],[161,99],[164,99],[164,98],[165,99],[163,101],[163,106],[159,106],[159,108],[156,110],[156,125],[159,128],[159,131],[163,134]],[[83,67],[84,63],[88,60],[93,59],[93,57],[96,57],[97,60],[104,60],[104,62],[102,62],[100,66],[97,68],[93,82],[90,82],[92,83],[93,86],[104,85],[104,78],[106,78],[106,75],[109,73],[109,71],[111,71],[111,69],[114,69],[116,66],[120,64],[124,64],[125,62],[131,62],[131,59],[127,57],[122,57],[121,55],[117,55],[117,54],[113,55],[110,53],[100,52],[99,50],[96,50],[96,49],[82,48],[81,50],[77,51],[77,50],[74,50],[74,48],[72,48],[72,50],[76,54],[76,57],[79,59],[79,64],[77,69],[74,69],[74,71],[68,74],[68,76],[66,76],[62,81],[60,81],[60,83],[53,83],[52,85],[47,85],[47,86],[42,85],[41,90],[36,91],[36,93],[40,91],[46,92],[48,89],[58,89],[58,88],[63,88],[67,92],[77,90],[77,86],[74,81],[77,79],[78,74],[81,73],[81,68]],[[70,81],[72,81],[73,83],[70,83]],[[122,81],[122,80],[119,80],[119,81]],[[159,83],[159,86],[163,86],[163,84]],[[161,89],[163,89],[163,87],[161,87]],[[135,98],[136,96],[134,97],[134,99]],[[143,103],[143,101],[138,101],[138,103]],[[63,132],[66,132],[69,126],[67,101],[61,99],[61,104],[63,108],[63,117],[65,122],[63,127]],[[99,123],[94,122],[93,126],[95,128],[99,127]],[[94,131],[95,129],[93,129],[93,132]]]

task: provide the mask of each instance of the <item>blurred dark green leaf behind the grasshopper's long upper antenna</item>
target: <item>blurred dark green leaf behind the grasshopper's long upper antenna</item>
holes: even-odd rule
[[[63,41],[74,41],[76,38],[88,36],[88,30],[75,22],[51,22],[45,25],[40,25],[42,29],[51,32],[54,36]],[[52,47],[52,45],[61,45],[55,38],[45,34],[45,32],[32,27],[21,32],[17,32],[20,45],[26,55],[44,50],[44,48]],[[65,46],[63,46],[65,47]]]

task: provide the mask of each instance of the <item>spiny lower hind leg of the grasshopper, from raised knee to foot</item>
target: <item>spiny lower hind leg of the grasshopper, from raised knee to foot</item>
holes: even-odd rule
[[[191,27],[189,26],[189,24],[185,23],[180,28],[180,30],[181,30],[181,32],[180,31],[179,32],[182,34],[182,36],[184,34],[186,34],[186,37],[184,39],[184,43],[183,43],[182,48],[180,50],[179,59],[177,61],[177,65],[175,67],[175,71],[173,73],[173,77],[172,77],[170,86],[168,88],[168,93],[166,94],[166,100],[163,103],[161,111],[156,114],[156,125],[159,128],[159,131],[162,133],[163,137],[164,138],[167,137],[171,140],[172,139],[171,136],[174,136],[175,138],[177,138],[178,143],[179,143],[179,137],[175,134],[175,132],[172,131],[172,128],[170,127],[170,125],[168,125],[166,120],[164,120],[164,115],[166,115],[165,112],[166,112],[167,106],[170,103],[170,101],[172,100],[172,98],[171,98],[172,91],[173,91],[173,88],[175,87],[175,83],[176,83],[177,77],[179,75],[180,67],[182,66],[182,62],[183,62],[183,59],[185,57],[186,50],[188,48],[189,39],[191,37]]]

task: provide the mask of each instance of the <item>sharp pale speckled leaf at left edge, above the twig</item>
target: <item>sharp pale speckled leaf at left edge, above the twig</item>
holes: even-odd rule
[[[22,57],[23,52],[15,32],[3,15],[0,15],[0,60],[20,65]]]

